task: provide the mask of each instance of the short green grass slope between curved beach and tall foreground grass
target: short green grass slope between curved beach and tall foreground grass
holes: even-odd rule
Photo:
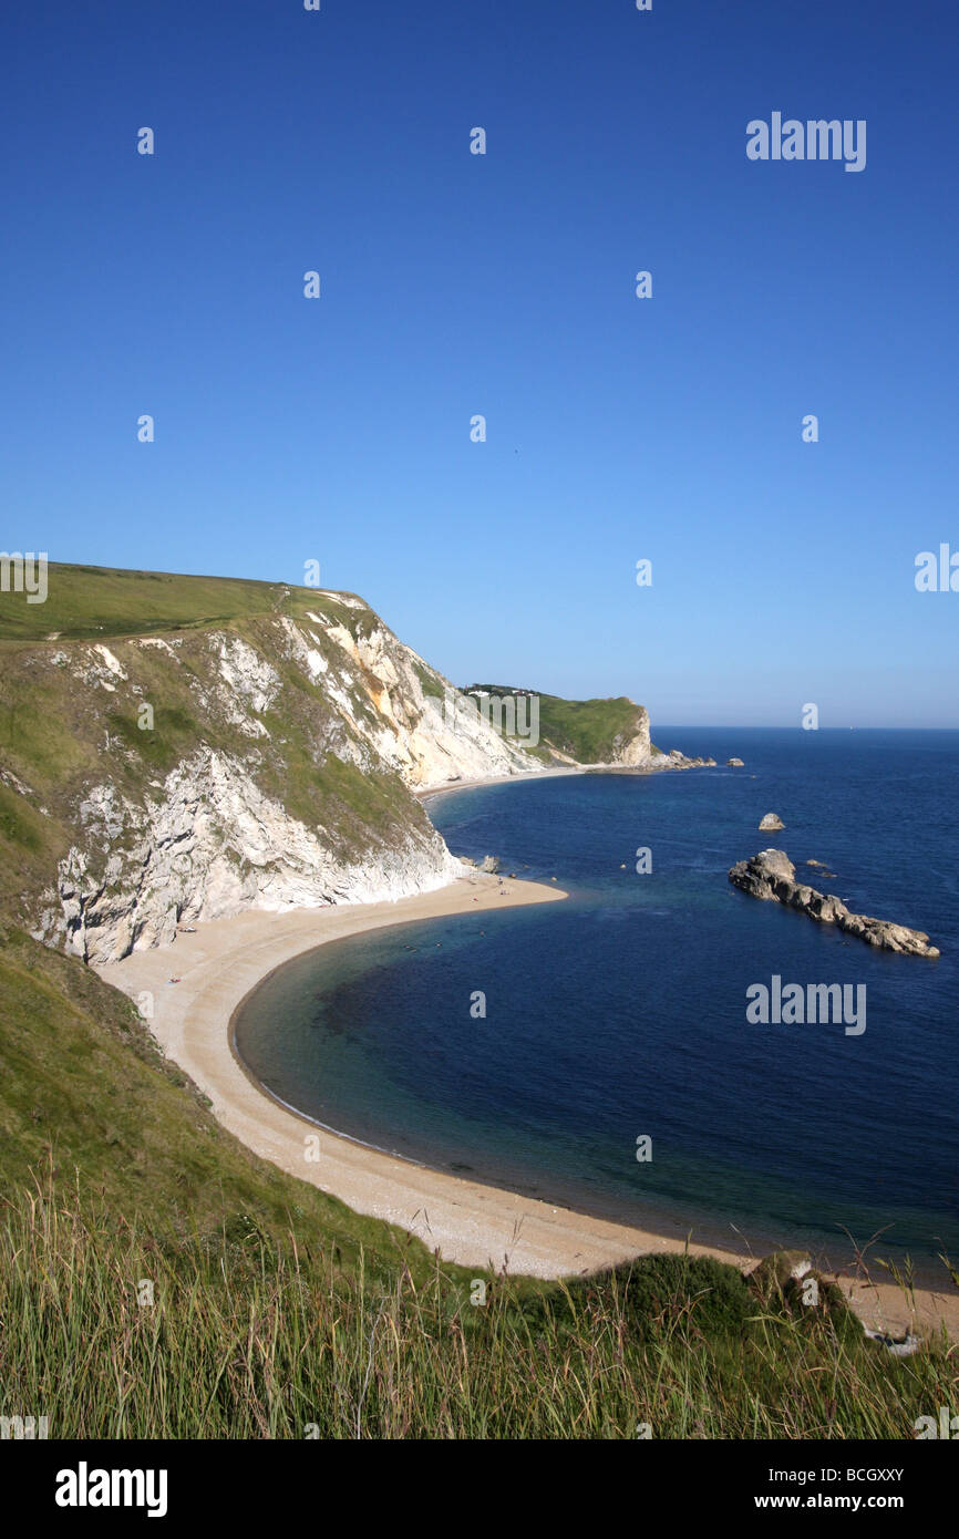
[[[97,1194],[115,1231],[139,1225],[175,1256],[197,1237],[260,1233],[291,1224],[354,1264],[360,1248],[426,1253],[399,1230],[354,1214],[257,1159],[168,1063],[132,1002],[91,968],[0,930],[0,1193],[52,1179],[69,1202],[77,1183]]]

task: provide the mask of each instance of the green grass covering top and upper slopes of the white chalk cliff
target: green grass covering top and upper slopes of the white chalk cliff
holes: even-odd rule
[[[402,779],[363,774],[349,762],[356,742],[340,706],[323,679],[288,656],[277,625],[283,617],[312,631],[356,719],[382,725],[363,669],[346,662],[353,685],[343,685],[348,651],[311,614],[354,639],[379,623],[351,594],[95,566],[51,565],[42,605],[0,593],[0,914],[32,928],[57,863],[71,845],[86,848],[77,820],[91,786],[109,783],[143,808],[200,748],[242,763],[260,791],[345,862],[402,845],[411,830],[425,836],[426,816]],[[166,645],[140,645],[146,636]],[[229,714],[220,637],[251,646],[280,680],[272,708],[246,709],[268,736],[251,737]],[[95,643],[109,648],[120,676],[111,677],[109,659],[91,651]],[[146,729],[143,705],[152,711]],[[125,837],[112,837],[114,854]],[[91,888],[105,859],[100,839]]]

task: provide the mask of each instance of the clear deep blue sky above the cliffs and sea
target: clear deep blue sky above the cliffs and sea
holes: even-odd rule
[[[319,560],[460,683],[654,722],[959,725],[959,593],[913,583],[959,551],[957,43],[890,0],[17,6],[0,543]],[[774,111],[865,119],[865,171],[750,162]]]

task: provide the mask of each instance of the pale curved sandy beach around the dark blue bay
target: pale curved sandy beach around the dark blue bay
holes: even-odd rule
[[[246,994],[274,968],[303,951],[365,930],[456,913],[545,903],[566,894],[553,885],[471,873],[436,893],[397,903],[340,905],[285,914],[248,911],[180,934],[174,946],[137,951],[99,968],[134,1000],[152,994],[152,1030],[166,1056],[209,1096],[216,1117],[256,1154],[291,1176],[340,1197],[351,1208],[399,1224],[431,1250],[465,1267],[503,1265],[513,1273],[559,1277],[651,1251],[687,1248],[687,1234],[662,1224],[660,1233],[627,1228],[554,1208],[531,1197],[483,1187],[316,1128],[260,1090],[236,1059],[229,1023]],[[175,977],[179,982],[171,983]],[[319,1140],[319,1160],[306,1140]],[[734,1265],[742,1254],[690,1245]],[[859,1314],[873,1328],[902,1333],[911,1324],[944,1319],[959,1333],[956,1294],[916,1294],[916,1311],[899,1288],[840,1279]]]

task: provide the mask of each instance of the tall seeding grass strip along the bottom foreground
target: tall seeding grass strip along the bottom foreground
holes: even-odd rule
[[[320,1234],[252,1222],[172,1253],[25,1193],[0,1216],[0,1414],[51,1437],[908,1439],[956,1402],[945,1342],[893,1359],[834,1300],[790,1313],[708,1259],[483,1280],[473,1304],[436,1259],[346,1274]]]

